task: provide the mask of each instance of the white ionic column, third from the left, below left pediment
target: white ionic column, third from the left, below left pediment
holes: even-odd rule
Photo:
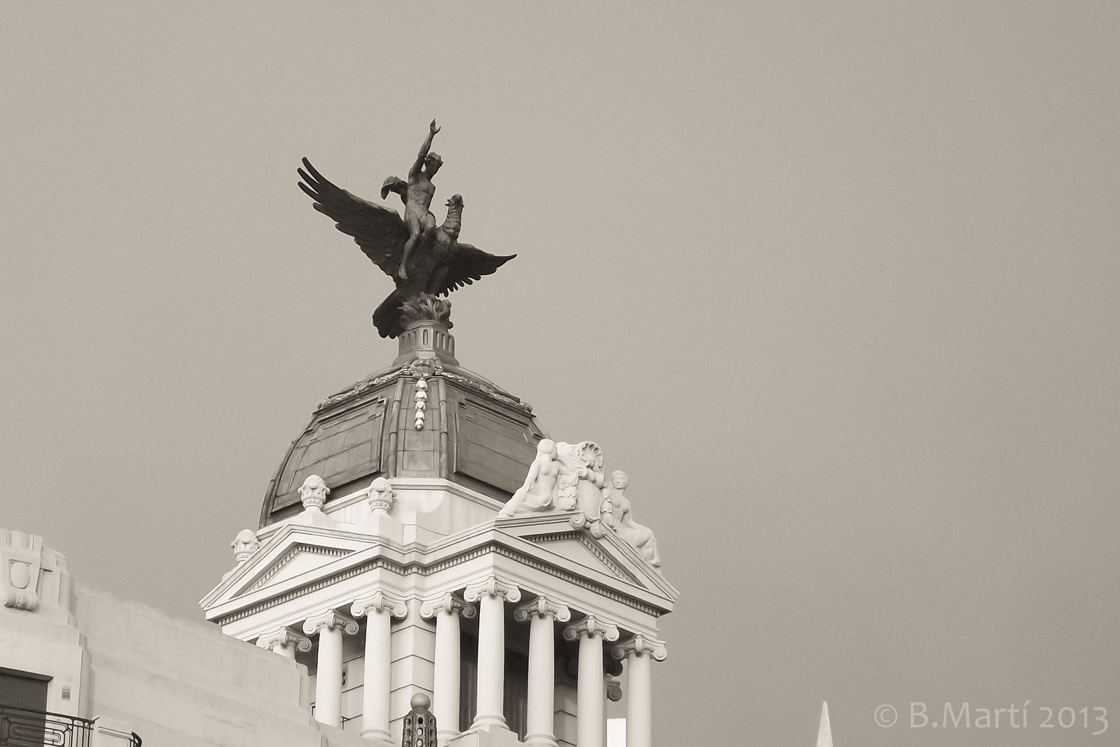
[[[365,616],[365,680],[362,682],[362,736],[392,744],[389,734],[389,697],[393,664],[390,642],[392,618],[403,619],[409,608],[401,599],[375,591],[351,605],[351,615]],[[318,707],[316,707],[318,709]]]

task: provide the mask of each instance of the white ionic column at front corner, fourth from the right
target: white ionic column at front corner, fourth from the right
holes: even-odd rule
[[[505,603],[521,601],[521,590],[492,576],[480,583],[468,586],[463,596],[467,601],[478,603],[478,704],[470,726],[506,729],[502,702],[505,684]]]

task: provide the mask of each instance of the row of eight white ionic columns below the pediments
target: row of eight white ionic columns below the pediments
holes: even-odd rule
[[[445,594],[420,607],[420,615],[436,623],[436,661],[432,713],[439,729],[439,744],[459,734],[459,651],[460,617],[478,615],[478,681],[477,704],[472,729],[507,728],[504,711],[505,678],[505,605],[521,601],[521,589],[496,577],[472,583],[461,597]],[[477,613],[475,606],[477,605]],[[319,637],[318,676],[316,678],[315,718],[329,726],[342,726],[343,635],[354,635],[358,624],[354,617],[366,617],[365,682],[363,688],[362,736],[375,743],[392,744],[389,730],[391,683],[391,618],[402,619],[408,608],[403,600],[377,591],[358,599],[347,617],[327,609],[307,618],[304,633]],[[571,609],[548,595],[515,607],[514,619],[529,622],[529,682],[525,713],[525,744],[556,747],[553,726],[556,688],[556,650],[553,624],[569,623]],[[607,643],[619,639],[616,625],[595,615],[585,615],[563,628],[567,641],[579,642],[577,672],[577,745],[604,747],[606,685],[603,656]],[[263,635],[258,645],[295,659],[296,650],[311,648],[309,637],[283,627]],[[613,645],[610,654],[626,661],[627,710],[626,747],[653,747],[653,707],[651,702],[650,660],[665,659],[665,647],[659,641],[642,635],[631,636]]]

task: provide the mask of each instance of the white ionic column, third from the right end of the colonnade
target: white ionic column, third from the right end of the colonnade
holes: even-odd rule
[[[513,610],[517,622],[529,623],[529,703],[525,712],[525,744],[556,747],[553,723],[556,692],[556,645],[552,622],[567,623],[571,610],[540,596]]]

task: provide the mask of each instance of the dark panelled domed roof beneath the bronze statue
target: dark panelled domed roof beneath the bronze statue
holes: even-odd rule
[[[547,435],[532,408],[459,366],[446,325],[418,321],[392,365],[319,403],[261,506],[261,526],[302,510],[318,475],[339,498],[376,477],[441,477],[502,501],[525,479]]]

